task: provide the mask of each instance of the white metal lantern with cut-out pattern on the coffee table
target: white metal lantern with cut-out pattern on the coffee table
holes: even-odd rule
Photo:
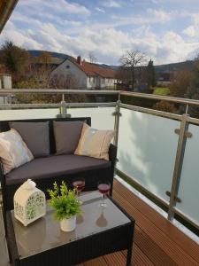
[[[25,226],[46,214],[45,194],[31,180],[22,184],[14,194],[14,216]]]

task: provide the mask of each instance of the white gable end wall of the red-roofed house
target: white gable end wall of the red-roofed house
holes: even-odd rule
[[[68,74],[73,74],[78,82],[78,89],[87,88],[87,75],[82,70],[80,70],[78,66],[75,66],[70,60],[67,59],[61,65],[57,66],[57,68],[51,72],[50,77],[60,74],[64,75],[65,78]]]

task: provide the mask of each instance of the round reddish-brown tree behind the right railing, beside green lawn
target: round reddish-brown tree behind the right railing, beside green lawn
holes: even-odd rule
[[[172,82],[169,86],[170,95],[172,97],[184,98],[188,92],[190,82],[190,72],[188,70],[180,70],[172,77]]]

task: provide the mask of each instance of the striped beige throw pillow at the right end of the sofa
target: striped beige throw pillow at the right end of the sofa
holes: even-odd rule
[[[84,123],[74,154],[109,160],[109,147],[113,136],[113,130],[92,129]]]

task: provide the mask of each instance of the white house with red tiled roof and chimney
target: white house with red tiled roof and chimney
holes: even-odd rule
[[[50,77],[73,77],[78,83],[78,89],[114,89],[118,82],[116,70],[110,67],[100,66],[81,60],[68,57],[59,64],[50,74]]]

